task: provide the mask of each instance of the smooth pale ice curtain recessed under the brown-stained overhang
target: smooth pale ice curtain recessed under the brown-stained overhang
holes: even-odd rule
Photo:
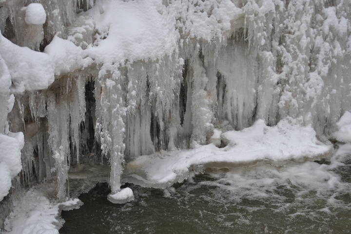
[[[229,41],[227,47],[220,51],[218,71],[226,81],[223,115],[237,129],[252,124],[256,106],[257,76],[255,60],[248,54],[243,42],[234,44]]]

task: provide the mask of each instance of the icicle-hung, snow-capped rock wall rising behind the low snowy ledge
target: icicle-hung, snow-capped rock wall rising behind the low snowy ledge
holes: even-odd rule
[[[0,135],[25,132],[22,180],[57,178],[60,200],[70,164],[94,164],[99,150],[116,193],[124,160],[259,119],[302,117],[328,136],[350,111],[347,1],[50,0],[34,5],[35,20],[28,3],[0,3]]]

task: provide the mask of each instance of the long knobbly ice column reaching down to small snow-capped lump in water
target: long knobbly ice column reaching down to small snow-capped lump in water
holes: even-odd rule
[[[120,190],[120,177],[124,163],[125,118],[124,90],[121,85],[124,76],[116,69],[100,74],[96,79],[95,98],[97,100],[97,122],[95,134],[101,144],[102,155],[110,162],[112,193]],[[103,160],[103,158],[101,158]]]

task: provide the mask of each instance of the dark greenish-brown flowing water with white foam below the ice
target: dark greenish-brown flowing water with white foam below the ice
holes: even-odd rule
[[[315,162],[208,172],[161,190],[129,184],[113,204],[106,183],[63,211],[60,234],[351,233],[351,164]]]

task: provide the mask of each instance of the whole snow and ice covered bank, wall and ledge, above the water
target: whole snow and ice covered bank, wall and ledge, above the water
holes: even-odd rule
[[[125,182],[351,151],[349,1],[39,2],[0,0],[1,222],[37,183],[57,233],[69,178],[120,203]]]

